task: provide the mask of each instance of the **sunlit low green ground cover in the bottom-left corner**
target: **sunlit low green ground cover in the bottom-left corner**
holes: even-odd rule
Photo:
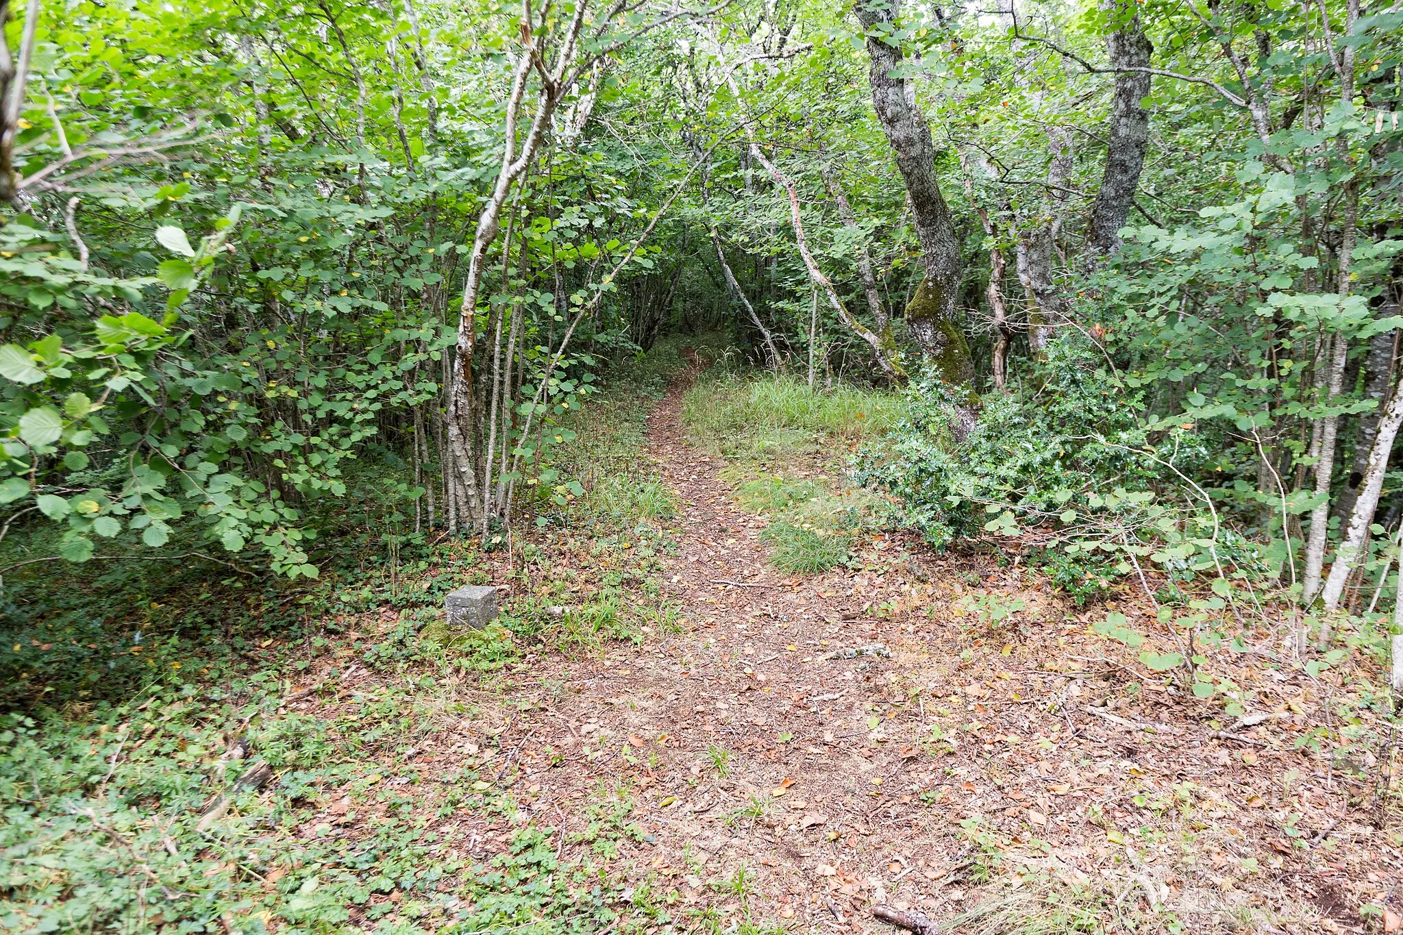
[[[407,708],[358,697],[373,716],[327,725],[278,715],[269,687],[276,678],[257,673],[216,702],[231,723],[254,725],[253,750],[282,778],[262,795],[234,793],[233,807],[208,831],[196,827],[202,803],[212,789],[231,789],[248,763],[220,756],[222,721],[201,715],[195,692],[157,692],[90,725],[7,715],[0,723],[6,927],[201,931],[234,915],[248,931],[313,932],[335,931],[356,913],[393,914],[396,931],[529,925],[564,934],[617,918],[609,903],[620,886],[588,862],[560,864],[554,828],[519,827],[505,852],[481,864],[446,858],[412,799],[380,792],[380,781],[396,777],[365,771],[368,751],[407,737]],[[250,695],[254,701],[241,701]],[[412,767],[400,778],[418,779]],[[515,809],[477,770],[441,782],[457,807]],[[342,796],[352,814],[376,799],[390,807],[361,824],[354,840],[330,823],[302,833]],[[619,833],[613,827],[593,834],[603,840]],[[387,900],[391,893],[400,897]]]

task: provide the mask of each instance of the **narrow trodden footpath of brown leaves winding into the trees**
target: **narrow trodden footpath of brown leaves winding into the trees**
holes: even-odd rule
[[[916,743],[923,708],[890,655],[912,656],[915,625],[871,615],[909,583],[877,569],[772,568],[766,520],[737,506],[724,461],[686,440],[686,385],[675,381],[648,418],[650,457],[679,503],[665,578],[683,631],[564,663],[578,694],[557,702],[570,730],[560,742],[637,763],[606,753],[595,771],[567,774],[575,789],[543,793],[572,799],[631,774],[631,817],[655,828],[648,869],[723,931],[746,918],[890,931],[870,901],[930,908],[919,890],[946,885],[958,899],[968,851],[946,809],[920,805],[929,784],[913,784],[929,767]]]

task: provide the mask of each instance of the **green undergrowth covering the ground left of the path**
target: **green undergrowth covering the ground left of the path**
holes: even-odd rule
[[[428,735],[477,716],[456,691],[464,680],[501,691],[529,652],[595,652],[678,628],[658,578],[673,502],[644,460],[645,414],[678,367],[676,345],[664,345],[575,416],[561,470],[582,478],[579,492],[537,498],[542,528],[509,542],[509,561],[429,541],[412,531],[412,509],[368,495],[337,520],[358,533],[321,540],[318,580],[157,554],[94,562],[95,586],[83,589],[42,575],[6,582],[0,929],[669,924],[665,893],[624,890],[610,869],[627,823],[600,817],[588,847],[561,859],[557,828],[528,820],[508,792],[518,767],[501,750],[434,770],[414,756]],[[393,460],[376,470],[382,488],[400,482]],[[443,596],[466,583],[512,586],[497,624],[445,625]],[[309,683],[334,702],[327,714],[281,704]],[[260,764],[272,779],[240,785]],[[498,854],[452,845],[445,821],[460,813],[509,824]]]

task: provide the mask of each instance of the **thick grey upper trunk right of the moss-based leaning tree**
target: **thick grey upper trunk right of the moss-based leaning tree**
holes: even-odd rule
[[[1113,69],[1149,67],[1155,46],[1141,29],[1135,7],[1128,0],[1114,0],[1113,15],[1121,18],[1120,28],[1106,39],[1106,52]],[[1101,186],[1092,206],[1090,245],[1103,257],[1121,248],[1121,227],[1135,205],[1141,170],[1145,167],[1145,147],[1149,142],[1149,111],[1141,101],[1149,94],[1149,74],[1118,71],[1115,95],[1111,101],[1111,122],[1107,128],[1106,170]]]

